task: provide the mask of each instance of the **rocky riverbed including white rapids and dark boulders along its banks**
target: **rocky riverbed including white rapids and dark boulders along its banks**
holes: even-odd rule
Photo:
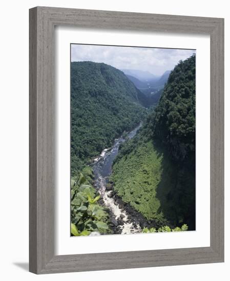
[[[126,133],[126,139],[134,137],[140,126],[141,124],[131,132]],[[94,159],[93,165],[94,186],[101,197],[99,203],[108,208],[110,228],[114,234],[140,233],[143,227],[154,226],[154,222],[147,221],[129,204],[123,202],[114,191],[113,182],[109,181],[109,176],[112,173],[112,164],[118,154],[119,145],[125,142],[126,139],[122,136],[115,139],[113,147],[104,149]]]

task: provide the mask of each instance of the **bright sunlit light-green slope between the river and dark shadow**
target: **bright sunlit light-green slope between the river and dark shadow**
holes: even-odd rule
[[[138,145],[137,145],[138,143]],[[114,190],[147,219],[165,223],[159,211],[160,201],[156,198],[161,179],[160,156],[151,141],[135,137],[124,144],[113,165],[111,180]]]

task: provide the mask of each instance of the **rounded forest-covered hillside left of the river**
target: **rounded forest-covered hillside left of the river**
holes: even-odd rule
[[[118,69],[71,63],[71,171],[112,145],[144,117],[147,99]]]

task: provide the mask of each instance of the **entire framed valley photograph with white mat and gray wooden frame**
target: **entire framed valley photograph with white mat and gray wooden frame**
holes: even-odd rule
[[[30,9],[30,271],[224,261],[224,20]]]

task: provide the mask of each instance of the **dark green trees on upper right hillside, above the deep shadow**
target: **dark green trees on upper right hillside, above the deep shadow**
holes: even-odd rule
[[[169,76],[147,128],[176,161],[195,159],[196,57],[180,61]]]

